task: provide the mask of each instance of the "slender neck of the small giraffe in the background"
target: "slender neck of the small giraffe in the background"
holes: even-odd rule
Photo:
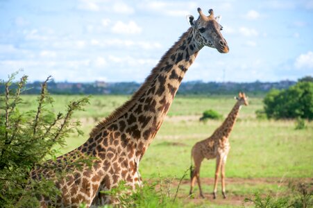
[[[230,111],[222,125],[217,129],[216,133],[219,133],[221,137],[229,137],[230,132],[232,131],[232,128],[237,121],[237,117],[241,107],[242,106],[239,102],[235,103],[234,107],[232,107],[232,110]]]

